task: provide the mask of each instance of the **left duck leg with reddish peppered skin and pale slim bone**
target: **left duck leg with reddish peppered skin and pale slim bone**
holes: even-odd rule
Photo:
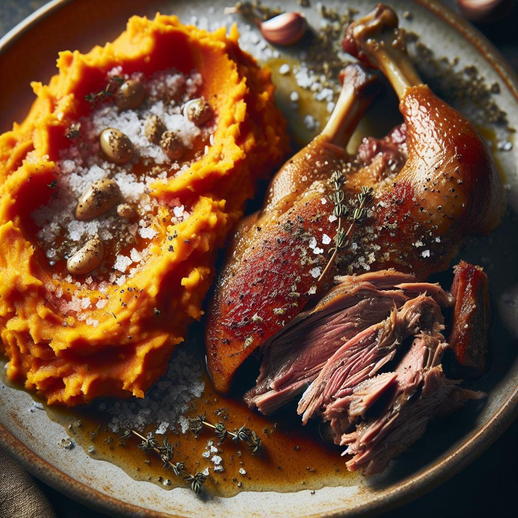
[[[361,65],[344,69],[341,94],[322,133],[277,172],[257,219],[238,228],[206,328],[208,365],[218,390],[227,391],[244,359],[309,300],[315,282],[309,270],[323,269],[325,258],[304,258],[311,252],[307,232],[322,217],[310,214],[304,199],[325,191],[332,172],[349,160],[345,147],[376,93],[375,82]]]

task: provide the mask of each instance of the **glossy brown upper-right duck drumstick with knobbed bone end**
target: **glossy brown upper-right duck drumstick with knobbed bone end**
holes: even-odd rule
[[[383,196],[415,196],[413,218],[444,238],[451,257],[464,236],[498,225],[505,209],[502,186],[477,130],[422,83],[397,24],[392,8],[378,4],[348,27],[343,48],[379,68],[399,97],[408,161]],[[402,215],[398,211],[396,219]]]

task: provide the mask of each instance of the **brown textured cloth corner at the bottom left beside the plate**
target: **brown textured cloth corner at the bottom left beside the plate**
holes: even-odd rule
[[[0,516],[56,518],[47,497],[34,479],[0,449]]]

